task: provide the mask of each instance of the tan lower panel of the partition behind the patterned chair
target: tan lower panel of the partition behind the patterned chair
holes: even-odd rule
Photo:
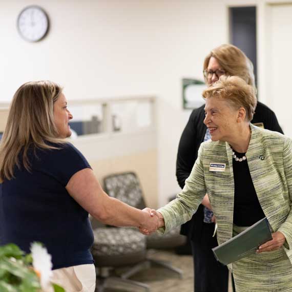
[[[120,172],[135,172],[140,180],[145,203],[157,208],[157,151],[148,150],[127,156],[114,157],[99,161],[89,161],[99,182],[103,178]]]

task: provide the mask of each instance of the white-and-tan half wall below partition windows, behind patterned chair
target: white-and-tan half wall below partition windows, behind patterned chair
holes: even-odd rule
[[[90,162],[102,183],[106,175],[136,172],[148,206],[158,206],[157,133],[155,127],[128,133],[80,136],[71,142]]]

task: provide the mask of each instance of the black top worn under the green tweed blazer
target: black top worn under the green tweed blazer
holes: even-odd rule
[[[234,152],[238,158],[245,155],[245,153]],[[247,160],[241,162],[232,160],[234,176],[233,222],[237,226],[251,226],[264,218],[265,214],[258,200]]]

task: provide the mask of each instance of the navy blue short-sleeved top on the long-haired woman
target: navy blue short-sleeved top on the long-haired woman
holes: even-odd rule
[[[31,150],[31,172],[15,167],[15,178],[0,184],[0,244],[13,242],[29,253],[31,242],[43,242],[53,269],[90,264],[88,212],[65,188],[76,172],[90,165],[72,144],[53,145],[60,149],[37,149],[36,156]]]

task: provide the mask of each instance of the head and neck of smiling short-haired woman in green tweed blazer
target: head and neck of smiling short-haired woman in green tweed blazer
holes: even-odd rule
[[[254,87],[235,76],[222,76],[204,90],[204,124],[212,141],[227,141],[234,150],[246,152],[250,138],[249,122],[257,106],[255,94]]]

